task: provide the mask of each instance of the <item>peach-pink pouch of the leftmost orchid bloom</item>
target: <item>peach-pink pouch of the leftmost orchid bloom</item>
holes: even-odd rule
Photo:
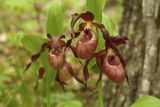
[[[48,60],[54,69],[60,69],[65,63],[65,53],[63,50],[52,49],[49,52]]]

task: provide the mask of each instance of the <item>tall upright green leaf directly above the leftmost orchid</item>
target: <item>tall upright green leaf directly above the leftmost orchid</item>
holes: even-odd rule
[[[49,8],[47,20],[47,33],[59,36],[64,32],[63,12],[59,0],[55,0]]]

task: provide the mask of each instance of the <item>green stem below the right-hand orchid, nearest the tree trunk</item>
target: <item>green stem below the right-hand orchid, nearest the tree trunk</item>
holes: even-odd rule
[[[102,79],[98,83],[98,102],[99,102],[99,107],[104,107]]]

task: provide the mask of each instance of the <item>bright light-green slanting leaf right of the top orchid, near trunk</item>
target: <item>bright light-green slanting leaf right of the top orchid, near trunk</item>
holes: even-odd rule
[[[107,28],[109,34],[112,35],[118,35],[118,31],[117,28],[115,26],[115,24],[113,23],[113,21],[110,19],[109,16],[106,16],[105,14],[102,15],[102,23],[104,24],[104,26]]]

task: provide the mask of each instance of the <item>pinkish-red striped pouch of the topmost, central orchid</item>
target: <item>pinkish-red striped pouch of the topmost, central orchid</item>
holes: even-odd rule
[[[90,58],[98,45],[98,40],[94,32],[91,35],[84,34],[76,45],[76,54],[79,58]]]

